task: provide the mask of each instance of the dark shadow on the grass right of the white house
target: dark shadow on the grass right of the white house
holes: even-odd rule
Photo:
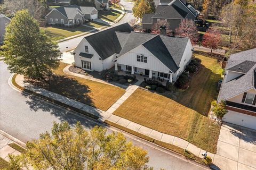
[[[211,102],[218,97],[217,86],[220,79],[220,74],[216,74],[202,65],[201,70],[192,76],[187,90],[175,89],[173,94],[164,96],[207,116]]]

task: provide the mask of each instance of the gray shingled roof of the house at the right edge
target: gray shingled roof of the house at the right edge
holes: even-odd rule
[[[226,82],[227,76],[224,77],[218,101],[221,99],[227,100],[247,90],[255,88],[256,48],[230,55],[226,70],[229,71],[231,69],[230,71],[237,71],[237,67],[239,68],[239,66],[243,68],[242,72],[239,71],[241,72],[241,76],[228,82]]]

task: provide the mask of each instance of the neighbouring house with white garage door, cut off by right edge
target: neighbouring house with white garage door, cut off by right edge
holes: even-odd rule
[[[230,55],[218,101],[225,100],[229,122],[256,129],[256,48]]]

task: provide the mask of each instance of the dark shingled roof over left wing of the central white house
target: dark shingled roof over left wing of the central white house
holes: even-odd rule
[[[128,23],[118,25],[116,27],[110,27],[109,29],[94,33],[91,36],[84,37],[93,49],[99,54],[102,60],[105,60],[109,56],[117,53],[119,54],[122,47],[118,39],[116,32],[131,32],[133,29]],[[119,36],[119,38],[125,38],[125,36]]]

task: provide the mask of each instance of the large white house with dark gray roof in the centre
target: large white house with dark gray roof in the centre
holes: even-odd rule
[[[190,62],[188,38],[134,32],[128,23],[84,37],[74,50],[75,65],[84,70],[142,74],[176,81]]]

